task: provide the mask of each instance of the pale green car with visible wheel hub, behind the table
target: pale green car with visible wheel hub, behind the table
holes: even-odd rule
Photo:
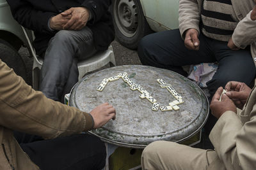
[[[179,27],[179,0],[113,0],[112,13],[116,39],[135,49],[152,31]]]

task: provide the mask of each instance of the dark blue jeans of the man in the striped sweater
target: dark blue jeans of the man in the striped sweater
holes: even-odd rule
[[[169,69],[184,76],[186,73],[181,66],[219,62],[212,80],[207,82],[211,97],[218,87],[225,87],[228,81],[241,81],[250,85],[255,78],[255,64],[249,47],[232,51],[227,42],[207,38],[203,34],[200,34],[199,40],[198,51],[188,50],[179,29],[156,32],[141,39],[138,55],[143,65]],[[216,119],[211,115],[206,125],[207,132],[211,131],[215,122]]]

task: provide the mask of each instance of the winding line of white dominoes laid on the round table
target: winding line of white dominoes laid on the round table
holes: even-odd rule
[[[108,81],[116,81],[122,78],[125,83],[127,83],[131,90],[138,90],[140,94],[141,99],[147,99],[150,103],[152,103],[152,110],[158,111],[159,110],[159,103],[157,103],[157,100],[154,99],[154,97],[151,96],[151,94],[145,90],[141,85],[134,83],[132,80],[129,79],[127,73],[118,73],[116,76],[112,76],[110,78],[104,78],[102,82],[100,83],[99,87],[97,87],[98,91],[102,91],[104,87],[106,87]],[[157,79],[157,82],[160,84],[161,88],[166,88],[174,97],[175,101],[172,101],[169,103],[169,106],[161,106],[161,111],[171,111],[171,110],[179,110],[178,104],[184,103],[184,100],[182,100],[182,97],[173,89],[172,85],[170,83],[166,83],[163,79]]]

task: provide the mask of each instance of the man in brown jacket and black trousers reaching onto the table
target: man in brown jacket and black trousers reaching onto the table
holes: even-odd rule
[[[0,60],[0,108],[0,169],[104,167],[104,143],[90,134],[77,133],[115,119],[115,108],[108,103],[86,113],[52,101],[31,89]],[[19,145],[13,131],[35,134],[45,140]]]

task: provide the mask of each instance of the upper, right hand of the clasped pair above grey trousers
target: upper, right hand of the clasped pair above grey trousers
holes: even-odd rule
[[[76,7],[64,11],[61,15],[63,17],[72,15],[67,24],[63,26],[63,29],[81,30],[87,24],[90,12],[84,7]]]

